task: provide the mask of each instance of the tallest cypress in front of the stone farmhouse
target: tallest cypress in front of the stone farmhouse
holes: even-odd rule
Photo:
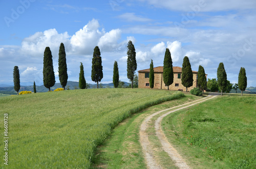
[[[163,60],[163,82],[166,86],[173,84],[174,82],[174,70],[173,70],[173,60],[170,56],[170,51],[166,48]]]

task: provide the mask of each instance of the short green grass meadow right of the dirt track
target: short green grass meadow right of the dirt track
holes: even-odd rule
[[[256,168],[256,96],[219,96],[162,121],[194,168]]]

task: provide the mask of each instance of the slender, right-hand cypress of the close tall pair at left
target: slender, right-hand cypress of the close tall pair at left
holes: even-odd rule
[[[66,61],[66,52],[65,46],[63,43],[60,43],[59,46],[59,82],[63,89],[65,90],[65,86],[68,82],[68,73],[67,73],[67,61]]]

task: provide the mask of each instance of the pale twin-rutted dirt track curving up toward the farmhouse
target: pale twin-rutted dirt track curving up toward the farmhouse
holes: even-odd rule
[[[164,110],[158,111],[156,113],[153,113],[153,114],[147,116],[143,120],[143,122],[141,124],[141,127],[140,127],[140,132],[139,132],[139,134],[140,134],[140,144],[142,146],[142,151],[143,151],[144,158],[145,158],[145,161],[146,161],[146,164],[147,164],[148,168],[152,168],[152,169],[162,168],[161,164],[156,160],[156,158],[154,156],[153,145],[148,140],[148,134],[146,133],[146,129],[148,128],[148,123],[150,122],[152,117],[154,117],[155,115],[158,115],[159,113],[162,113],[164,111],[178,108],[178,109],[175,109],[173,111],[169,111],[169,112],[161,115],[156,120],[156,122],[155,122],[155,130],[156,130],[156,135],[157,135],[158,139],[160,140],[160,142],[162,144],[163,150],[175,162],[176,166],[179,167],[179,168],[189,168],[189,166],[186,164],[184,159],[182,159],[182,157],[179,155],[177,150],[174,149],[172,144],[170,144],[167,141],[167,138],[165,137],[165,135],[164,135],[164,133],[163,133],[163,131],[161,129],[161,126],[160,126],[161,121],[162,121],[163,117],[165,117],[166,115],[168,115],[168,114],[170,114],[172,112],[175,112],[175,111],[178,111],[178,110],[190,107],[190,106],[194,106],[196,104],[202,103],[202,102],[204,102],[206,100],[209,100],[209,99],[212,99],[212,98],[215,98],[215,97],[216,96],[212,96],[211,98],[208,98],[208,99],[207,98],[203,98],[203,99],[199,99],[199,100],[196,100],[196,101],[193,101],[193,102],[189,102],[189,103],[186,103],[186,104],[183,104],[183,105],[179,105],[179,106],[171,107],[171,108],[168,108],[168,109],[164,109]]]

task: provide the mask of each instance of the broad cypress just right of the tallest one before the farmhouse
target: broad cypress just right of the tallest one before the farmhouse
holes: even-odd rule
[[[193,86],[193,73],[187,56],[184,57],[181,69],[181,84],[187,88]]]

